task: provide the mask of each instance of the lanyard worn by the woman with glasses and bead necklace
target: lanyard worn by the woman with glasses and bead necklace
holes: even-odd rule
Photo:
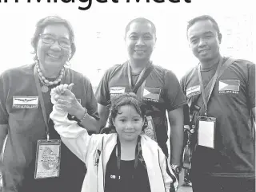
[[[36,67],[34,65],[34,80],[35,80],[35,84],[36,84],[36,87],[37,87],[37,90],[38,90],[38,97],[39,97],[39,100],[40,100],[43,120],[44,120],[44,122],[46,124],[46,139],[49,140],[50,139],[50,129],[49,129],[49,126],[48,126],[48,122],[50,120],[50,117],[47,120],[45,102],[44,102],[43,97],[42,97],[42,90],[41,90],[41,86],[40,86],[40,82],[39,82],[38,74],[37,73],[38,73],[37,69],[36,69]],[[65,72],[64,72],[64,74],[65,74]],[[65,75],[63,77],[65,77]],[[62,77],[61,84],[64,83],[64,79],[65,78],[63,78],[63,77]]]

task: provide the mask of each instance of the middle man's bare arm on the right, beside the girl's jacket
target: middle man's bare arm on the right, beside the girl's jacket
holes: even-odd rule
[[[171,163],[175,165],[181,164],[183,150],[183,107],[176,108],[168,112],[170,122],[170,151]]]

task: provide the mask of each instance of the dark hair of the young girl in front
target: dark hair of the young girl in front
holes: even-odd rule
[[[114,96],[114,98],[111,100],[109,117],[110,127],[107,129],[108,131],[105,130],[105,132],[115,131],[113,119],[118,115],[118,109],[124,105],[133,106],[136,112],[138,112],[138,114],[145,120],[142,131],[144,131],[144,129],[147,127],[146,105],[143,104],[142,100],[140,100],[138,96],[134,94],[134,92],[125,92],[119,96]]]

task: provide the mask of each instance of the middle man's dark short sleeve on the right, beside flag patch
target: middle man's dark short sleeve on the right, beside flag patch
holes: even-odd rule
[[[186,104],[186,97],[182,92],[178,78],[169,70],[166,70],[165,74],[165,101],[166,109],[169,112]]]

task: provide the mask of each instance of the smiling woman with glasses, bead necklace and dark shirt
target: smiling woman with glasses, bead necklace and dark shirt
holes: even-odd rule
[[[65,19],[42,18],[32,46],[34,64],[7,70],[0,76],[0,138],[8,134],[2,163],[3,190],[80,192],[86,167],[58,140],[49,118],[53,107],[50,89],[74,83],[72,94],[78,99],[70,100],[69,118],[97,131],[92,86],[81,73],[66,68],[75,45],[73,29]]]

